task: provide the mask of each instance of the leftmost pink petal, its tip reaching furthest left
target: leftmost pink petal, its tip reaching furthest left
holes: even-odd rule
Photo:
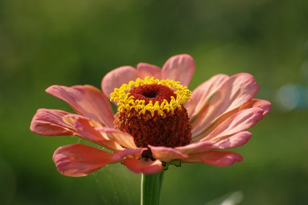
[[[31,121],[30,130],[45,136],[73,135],[74,128],[62,119],[67,114],[69,113],[62,110],[39,109]]]

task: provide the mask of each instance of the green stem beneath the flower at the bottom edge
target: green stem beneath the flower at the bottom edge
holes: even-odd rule
[[[141,176],[141,205],[159,205],[165,171]]]

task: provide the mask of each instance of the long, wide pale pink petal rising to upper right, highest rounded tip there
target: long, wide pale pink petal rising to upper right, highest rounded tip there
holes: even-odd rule
[[[202,110],[192,122],[192,136],[199,135],[224,113],[247,103],[256,95],[258,89],[259,86],[251,74],[239,73],[229,77],[214,94],[208,108]]]

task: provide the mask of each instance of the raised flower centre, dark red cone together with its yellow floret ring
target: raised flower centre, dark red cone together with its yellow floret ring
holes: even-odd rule
[[[138,78],[114,89],[117,103],[114,129],[129,133],[137,147],[180,147],[191,141],[191,125],[183,104],[191,92],[179,82]],[[155,102],[155,103],[153,103]],[[151,150],[142,157],[154,160]]]

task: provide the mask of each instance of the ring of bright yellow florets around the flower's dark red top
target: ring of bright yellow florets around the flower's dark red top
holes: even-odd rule
[[[176,98],[171,96],[170,101],[164,99],[161,104],[159,101],[156,101],[154,104],[150,100],[149,103],[145,104],[145,100],[134,99],[134,96],[130,95],[130,92],[133,88],[143,86],[143,85],[163,85],[167,86],[170,89],[174,90],[176,94]],[[151,113],[151,116],[154,116],[155,112],[159,115],[165,115],[164,112],[171,112],[174,114],[176,109],[182,110],[182,104],[185,103],[188,99],[191,100],[191,91],[185,86],[180,85],[179,81],[174,80],[158,80],[154,79],[154,77],[146,76],[143,79],[138,78],[136,81],[129,81],[128,84],[123,84],[120,88],[115,88],[114,92],[110,94],[110,100],[114,100],[118,102],[118,110],[123,111],[126,109],[128,111],[134,109],[138,112],[139,115],[145,114],[146,111]]]

